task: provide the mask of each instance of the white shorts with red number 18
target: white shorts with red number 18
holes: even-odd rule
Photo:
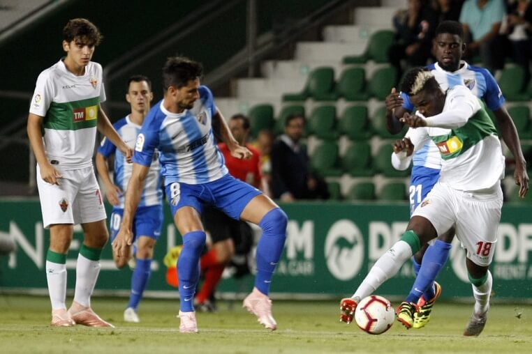
[[[436,183],[413,216],[428,219],[438,236],[455,226],[467,258],[480,266],[492,263],[501,221],[503,192],[498,183],[491,190],[463,192]]]

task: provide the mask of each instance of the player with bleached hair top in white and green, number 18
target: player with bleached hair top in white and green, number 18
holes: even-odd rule
[[[466,266],[475,297],[464,335],[478,335],[489,310],[492,275],[488,268],[503,204],[501,178],[505,166],[497,130],[480,100],[466,86],[443,91],[434,75],[424,68],[407,72],[401,90],[418,108],[415,115],[404,114],[401,122],[419,131],[411,140],[405,139],[404,145],[396,144],[394,148],[401,151],[412,145],[415,150],[432,139],[443,160],[441,176],[415,209],[401,240],[376,261],[353,299],[357,301],[374,292],[397,274],[422,245],[454,227],[466,249]],[[524,180],[519,195],[523,197],[527,190],[528,180]],[[414,302],[402,302],[397,309],[398,320],[412,323],[417,310]]]

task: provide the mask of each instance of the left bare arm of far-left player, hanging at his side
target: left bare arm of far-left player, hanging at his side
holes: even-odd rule
[[[31,149],[34,151],[35,158],[39,165],[40,177],[47,183],[59,185],[61,174],[57,169],[48,162],[43,144],[43,133],[40,128],[43,123],[42,116],[30,113],[28,115],[27,132]]]

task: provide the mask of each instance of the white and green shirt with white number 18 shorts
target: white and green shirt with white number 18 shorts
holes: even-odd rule
[[[468,88],[455,86],[442,113],[411,136],[415,147],[427,139],[441,153],[441,177],[413,216],[427,218],[438,235],[455,226],[468,259],[489,265],[503,205],[504,156],[494,123]]]

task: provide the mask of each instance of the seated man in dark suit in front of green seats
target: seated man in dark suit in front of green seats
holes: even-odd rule
[[[290,202],[329,198],[327,183],[310,171],[309,156],[300,144],[304,127],[304,116],[288,116],[285,133],[272,146],[272,193],[275,199]]]

